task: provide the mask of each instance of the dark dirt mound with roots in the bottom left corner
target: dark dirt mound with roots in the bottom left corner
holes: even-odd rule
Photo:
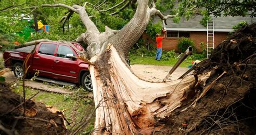
[[[8,87],[0,86],[0,134],[64,134],[66,128],[61,112],[51,112],[43,103],[26,101],[24,113],[23,98],[12,93]],[[13,110],[13,111],[12,111]],[[5,130],[5,132],[3,132]]]

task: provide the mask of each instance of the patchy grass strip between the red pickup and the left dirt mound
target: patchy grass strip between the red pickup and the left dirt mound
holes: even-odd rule
[[[35,95],[39,90],[26,88],[25,94],[26,99],[30,98],[31,96]],[[19,95],[23,95],[22,87],[17,87],[14,89],[15,93]],[[74,94],[56,94],[56,93],[49,93],[44,91],[39,91],[34,99],[35,102],[43,102],[45,105],[52,105],[55,106],[60,111],[64,109],[68,109],[65,111],[65,116],[68,121],[72,124],[79,122],[79,120],[83,117],[85,113],[91,113],[94,110],[94,103],[93,99],[80,97],[79,95],[86,95],[87,92],[76,89]],[[90,120],[90,123],[87,125],[84,132],[90,132],[93,130],[95,118],[93,117]],[[68,126],[69,128],[70,126]]]

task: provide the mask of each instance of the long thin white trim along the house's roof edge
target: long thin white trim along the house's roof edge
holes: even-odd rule
[[[207,31],[207,29],[201,29],[201,28],[166,28],[167,31]],[[233,29],[214,29],[215,32],[232,32]]]

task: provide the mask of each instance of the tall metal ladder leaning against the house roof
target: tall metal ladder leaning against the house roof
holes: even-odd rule
[[[212,50],[214,49],[214,16],[213,13],[210,15],[210,19],[207,20],[207,59],[211,55]]]

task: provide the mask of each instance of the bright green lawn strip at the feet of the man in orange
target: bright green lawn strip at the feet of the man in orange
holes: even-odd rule
[[[130,56],[131,65],[140,64],[140,65],[173,66],[177,61],[178,59],[175,59],[175,58],[170,58],[170,60],[167,60],[167,61],[164,61],[164,60],[157,61],[154,59],[154,56],[144,56],[144,57]],[[192,62],[191,59],[185,59],[180,64],[179,67],[188,67],[189,65],[192,64],[191,62]]]

